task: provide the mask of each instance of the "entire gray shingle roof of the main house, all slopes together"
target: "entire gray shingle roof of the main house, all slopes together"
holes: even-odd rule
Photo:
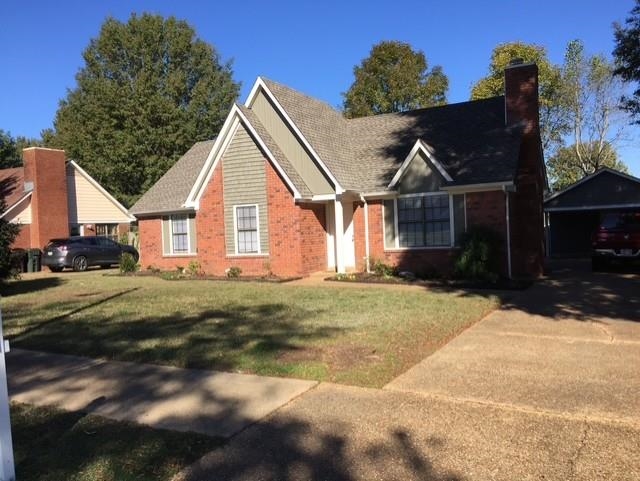
[[[263,79],[322,163],[344,189],[378,192],[418,140],[453,179],[449,185],[514,180],[522,128],[505,126],[504,97],[345,119],[325,102]],[[251,109],[238,106],[303,197],[312,194]],[[131,208],[132,214],[183,209],[214,141],[198,142]]]

